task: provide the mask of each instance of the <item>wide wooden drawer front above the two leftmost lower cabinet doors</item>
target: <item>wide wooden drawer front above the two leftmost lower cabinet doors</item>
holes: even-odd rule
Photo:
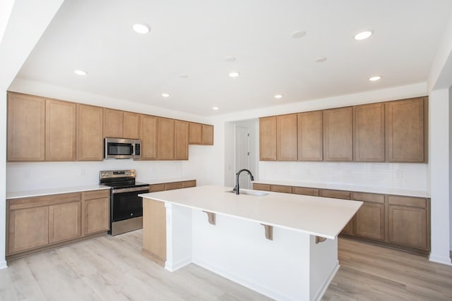
[[[32,207],[78,202],[81,200],[81,192],[64,193],[60,195],[43,195],[41,197],[25,197],[23,199],[9,200],[9,209],[24,209]]]

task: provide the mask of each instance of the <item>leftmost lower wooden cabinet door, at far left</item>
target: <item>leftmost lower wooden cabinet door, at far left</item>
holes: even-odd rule
[[[8,254],[49,243],[49,207],[17,209],[8,216]]]

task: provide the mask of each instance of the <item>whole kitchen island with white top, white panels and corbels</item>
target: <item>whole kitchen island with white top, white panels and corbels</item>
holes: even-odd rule
[[[319,300],[339,268],[338,233],[362,202],[230,190],[140,195],[143,251],[169,271],[194,263],[276,300]]]

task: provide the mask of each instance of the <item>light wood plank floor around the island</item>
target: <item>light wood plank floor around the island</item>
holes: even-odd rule
[[[101,236],[8,262],[0,300],[270,300],[189,266],[170,273],[141,254],[142,231]],[[452,266],[339,240],[328,300],[452,300]]]

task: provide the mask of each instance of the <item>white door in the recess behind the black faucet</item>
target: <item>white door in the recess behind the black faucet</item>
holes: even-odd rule
[[[243,168],[249,169],[249,128],[245,125],[236,124],[235,173]],[[240,173],[239,184],[240,188],[251,189],[251,180],[249,178],[249,174],[246,171]]]

